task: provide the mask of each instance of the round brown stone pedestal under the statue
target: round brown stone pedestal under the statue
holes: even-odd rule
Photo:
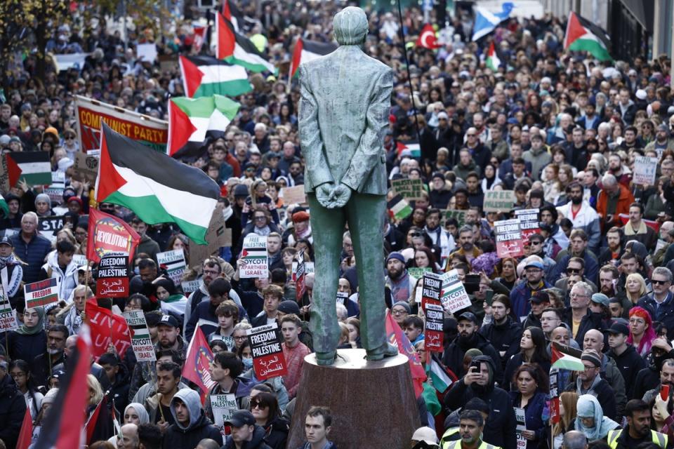
[[[339,349],[332,366],[319,366],[315,354],[304,358],[287,447],[304,441],[311,406],[332,410],[329,439],[338,448],[409,448],[420,427],[407,357],[366,361],[364,349]]]

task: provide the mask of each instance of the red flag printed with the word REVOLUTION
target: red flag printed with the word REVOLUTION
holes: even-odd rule
[[[100,262],[106,253],[128,253],[133,257],[140,236],[121,218],[101,212],[89,210],[89,229],[86,242],[86,258]]]

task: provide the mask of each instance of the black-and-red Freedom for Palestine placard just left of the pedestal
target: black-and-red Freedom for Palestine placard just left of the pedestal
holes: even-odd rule
[[[253,369],[258,380],[288,373],[278,327],[277,323],[272,323],[246,330],[253,351]]]

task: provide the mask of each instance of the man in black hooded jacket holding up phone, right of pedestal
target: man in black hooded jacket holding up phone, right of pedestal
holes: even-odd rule
[[[451,389],[444,395],[444,405],[456,410],[465,406],[465,403],[468,403],[472,398],[482,399],[490,406],[489,416],[482,434],[484,442],[500,448],[515,448],[517,437],[515,436],[516,422],[513,401],[505,390],[494,386],[496,380],[494,378],[494,367],[496,364],[488,356],[473,357],[473,363],[479,363],[480,368],[471,364],[470,373],[454,382]],[[477,414],[480,413],[477,412]]]

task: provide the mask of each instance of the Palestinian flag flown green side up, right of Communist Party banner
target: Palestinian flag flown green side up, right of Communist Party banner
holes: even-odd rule
[[[196,154],[220,137],[239,111],[239,103],[223,95],[169,100],[169,156]]]

